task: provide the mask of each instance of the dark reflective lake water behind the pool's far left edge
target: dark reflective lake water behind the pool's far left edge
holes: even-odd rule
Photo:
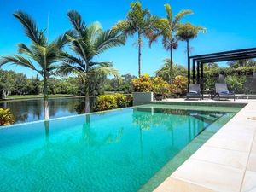
[[[0,108],[10,108],[15,124],[44,119],[43,99],[0,102]],[[49,118],[84,113],[84,98],[49,99]]]

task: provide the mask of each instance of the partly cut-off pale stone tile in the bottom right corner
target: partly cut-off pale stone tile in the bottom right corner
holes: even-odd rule
[[[256,192],[256,172],[246,172],[241,192]]]

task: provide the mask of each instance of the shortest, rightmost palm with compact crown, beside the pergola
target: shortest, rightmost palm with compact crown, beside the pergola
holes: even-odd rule
[[[189,60],[189,41],[196,38],[199,32],[206,32],[206,28],[193,26],[191,23],[181,24],[177,27],[177,37],[187,43],[187,56]]]

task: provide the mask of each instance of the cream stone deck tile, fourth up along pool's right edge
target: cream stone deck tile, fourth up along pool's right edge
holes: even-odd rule
[[[249,152],[253,139],[234,138],[234,137],[212,137],[205,143],[206,146],[213,148],[225,148],[241,152]]]

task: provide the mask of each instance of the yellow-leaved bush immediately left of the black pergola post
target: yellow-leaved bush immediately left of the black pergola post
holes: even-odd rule
[[[171,96],[184,96],[187,93],[188,79],[183,76],[177,76],[171,84]]]

